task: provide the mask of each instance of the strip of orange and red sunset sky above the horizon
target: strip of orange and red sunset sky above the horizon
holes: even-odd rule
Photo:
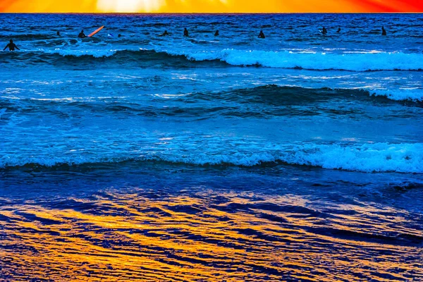
[[[423,12],[423,0],[0,0],[0,12]]]

